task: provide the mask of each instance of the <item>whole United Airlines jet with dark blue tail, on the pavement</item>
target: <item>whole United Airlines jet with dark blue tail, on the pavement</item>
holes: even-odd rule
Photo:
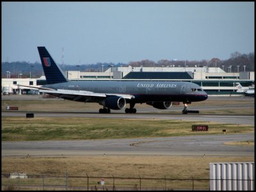
[[[103,108],[100,114],[125,108],[125,113],[135,114],[136,103],[147,103],[154,108],[168,109],[173,101],[183,102],[184,110],[191,102],[207,100],[207,93],[191,82],[153,81],[153,80],[91,80],[70,81],[65,77],[58,64],[54,62],[45,47],[37,47],[47,81],[38,88],[65,100],[99,103]]]

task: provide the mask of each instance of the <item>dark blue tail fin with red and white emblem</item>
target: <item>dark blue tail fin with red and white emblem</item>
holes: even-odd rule
[[[58,84],[68,82],[63,71],[61,71],[58,64],[54,62],[51,55],[45,47],[37,47],[40,55],[41,63],[44,69],[47,84]]]

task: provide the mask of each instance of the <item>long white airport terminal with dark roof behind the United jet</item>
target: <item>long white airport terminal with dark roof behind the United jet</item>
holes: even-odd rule
[[[102,72],[66,71],[69,80],[161,80],[186,81],[200,85],[209,96],[241,96],[236,92],[237,83],[245,89],[254,84],[254,71],[225,72],[221,68],[209,67],[110,67]],[[2,94],[35,94],[35,90],[23,89],[19,85],[40,87],[46,84],[40,78],[2,78]]]

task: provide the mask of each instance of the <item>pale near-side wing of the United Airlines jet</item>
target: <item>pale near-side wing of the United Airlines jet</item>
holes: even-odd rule
[[[120,96],[126,100],[131,100],[134,98],[131,94],[111,94],[111,93],[100,93],[91,91],[72,91],[67,89],[57,89],[57,90],[40,90],[40,92],[48,93],[58,98],[68,98],[74,101],[84,100],[90,101],[92,98],[106,98],[108,96]]]

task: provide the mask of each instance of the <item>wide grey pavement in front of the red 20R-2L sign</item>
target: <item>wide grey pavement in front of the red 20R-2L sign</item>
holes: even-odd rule
[[[2,156],[154,155],[254,156],[254,147],[224,145],[253,140],[252,133],[188,137],[2,142]]]

